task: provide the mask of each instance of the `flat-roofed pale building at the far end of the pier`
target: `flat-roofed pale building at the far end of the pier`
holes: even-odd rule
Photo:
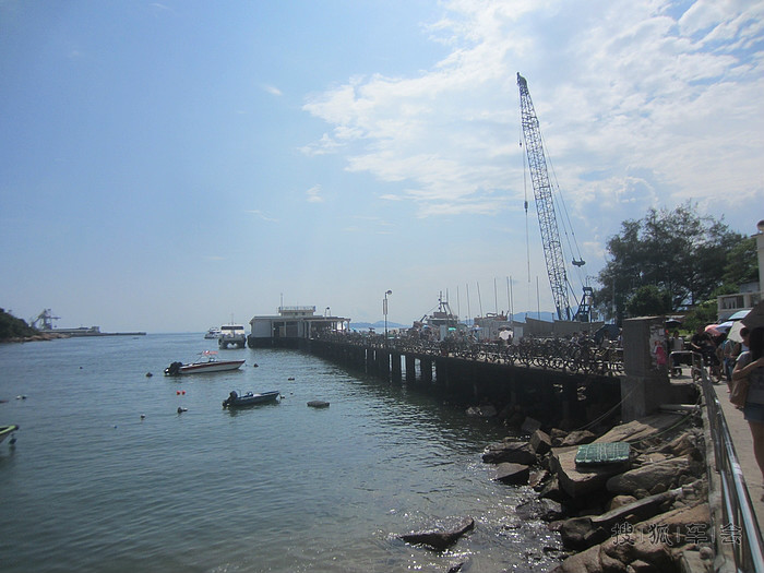
[[[253,317],[249,323],[251,334],[247,345],[250,348],[299,348],[301,341],[350,327],[350,319],[332,317],[329,309],[317,315],[315,307],[278,307],[278,314]]]

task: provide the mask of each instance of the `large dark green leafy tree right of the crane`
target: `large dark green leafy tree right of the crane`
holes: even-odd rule
[[[619,322],[626,315],[693,308],[725,283],[757,274],[749,239],[699,215],[689,202],[673,211],[650,208],[642,219],[621,223],[607,248],[610,260],[599,273],[602,288],[595,303]],[[644,289],[648,286],[654,290]]]

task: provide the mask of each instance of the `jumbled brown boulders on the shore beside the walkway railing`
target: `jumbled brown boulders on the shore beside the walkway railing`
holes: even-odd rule
[[[712,571],[714,533],[708,508],[705,440],[697,413],[659,414],[602,431],[547,431],[530,418],[482,455],[494,479],[536,492],[515,511],[559,532],[563,553],[553,573],[672,573]],[[578,446],[624,444],[612,463],[576,464]],[[601,444],[597,446],[597,444]],[[475,527],[470,517],[450,530],[402,538],[442,551]],[[464,563],[452,571],[458,571]]]

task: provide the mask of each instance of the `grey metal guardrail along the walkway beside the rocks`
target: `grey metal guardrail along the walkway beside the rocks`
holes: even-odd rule
[[[732,437],[727,426],[716,390],[705,368],[701,369],[701,383],[708,409],[711,435],[714,441],[716,470],[721,482],[724,516],[726,523],[714,524],[719,539],[732,541],[735,566],[740,572],[764,573],[764,542],[753,513],[748,487],[735,452]],[[712,513],[713,515],[713,513]],[[712,517],[713,518],[713,517]]]

